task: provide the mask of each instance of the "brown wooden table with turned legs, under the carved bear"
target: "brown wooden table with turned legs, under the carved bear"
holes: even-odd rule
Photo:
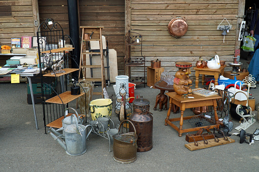
[[[167,111],[167,116],[165,119],[165,125],[170,125],[172,128],[176,129],[179,133],[179,136],[182,136],[182,133],[184,132],[190,132],[190,131],[197,131],[200,128],[204,128],[205,126],[201,127],[195,127],[195,128],[187,128],[183,129],[183,120],[191,119],[194,116],[187,116],[184,117],[184,111],[187,108],[196,108],[196,107],[203,107],[203,106],[213,106],[214,113],[215,113],[215,124],[214,125],[209,125],[210,128],[216,127],[219,128],[219,121],[218,121],[218,115],[217,115],[217,101],[216,99],[222,98],[219,95],[212,95],[209,97],[203,97],[199,95],[192,94],[194,98],[184,98],[181,95],[178,95],[176,92],[168,92],[166,95],[169,96],[169,109]],[[171,107],[172,105],[176,105],[180,107],[181,111],[181,117],[180,118],[170,118],[170,113],[171,113]],[[180,126],[177,127],[175,124],[172,123],[172,121],[180,121]]]

